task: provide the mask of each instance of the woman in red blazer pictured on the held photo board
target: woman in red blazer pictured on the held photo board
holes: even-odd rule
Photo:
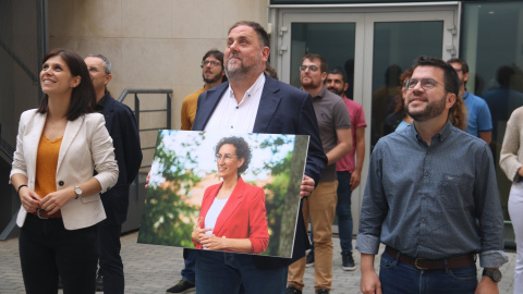
[[[198,249],[259,254],[267,249],[265,192],[243,182],[251,148],[242,137],[226,137],[216,145],[220,184],[206,188],[192,240]]]

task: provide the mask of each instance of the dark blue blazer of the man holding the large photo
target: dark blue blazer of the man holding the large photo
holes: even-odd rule
[[[313,177],[317,184],[321,170],[327,166],[327,157],[319,138],[313,99],[309,94],[301,89],[273,79],[267,74],[265,77],[253,133],[311,136],[305,174]],[[228,87],[229,82],[226,82],[199,95],[193,131],[204,130]],[[253,259],[260,269],[288,266],[305,256],[305,250],[309,247],[305,222],[300,209],[292,259],[266,256],[253,256]]]

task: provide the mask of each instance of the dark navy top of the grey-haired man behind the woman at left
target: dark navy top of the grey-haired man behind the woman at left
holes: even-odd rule
[[[138,174],[142,164],[138,126],[131,109],[106,94],[102,111],[106,127],[112,137],[114,156],[120,171],[114,187],[101,194],[107,220],[122,224],[127,219],[129,186]]]

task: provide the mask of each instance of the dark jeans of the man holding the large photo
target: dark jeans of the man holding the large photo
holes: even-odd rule
[[[287,273],[288,267],[258,269],[251,255],[196,250],[198,294],[283,294]]]

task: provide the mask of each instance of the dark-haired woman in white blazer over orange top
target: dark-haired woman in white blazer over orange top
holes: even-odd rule
[[[118,180],[112,139],[93,113],[84,60],[54,49],[40,72],[44,98],[20,119],[11,183],[22,207],[16,223],[26,293],[95,293],[100,193]],[[96,171],[96,175],[95,174]]]

